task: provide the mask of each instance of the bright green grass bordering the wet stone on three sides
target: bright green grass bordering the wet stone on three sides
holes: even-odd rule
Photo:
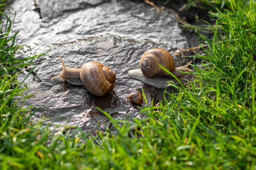
[[[9,20],[0,38],[0,169],[256,169],[256,2],[224,2],[211,8],[213,39],[198,34],[208,48],[195,55],[195,79],[141,108],[147,119],[102,111],[115,130],[97,134],[67,126],[51,133],[42,120],[29,122],[32,106],[17,105],[29,96],[16,76],[37,56],[14,57],[21,46],[17,33],[8,35]]]

